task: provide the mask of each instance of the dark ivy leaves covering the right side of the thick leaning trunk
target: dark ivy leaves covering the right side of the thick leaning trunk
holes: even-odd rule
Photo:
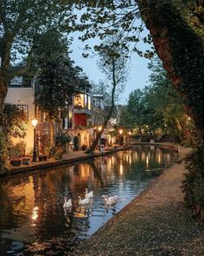
[[[203,131],[204,41],[192,28],[188,27],[175,10],[170,10],[169,15],[171,18],[165,18],[165,20],[169,28],[168,40],[172,45],[171,55],[175,76],[182,78],[177,89],[190,115],[194,117],[195,126]],[[172,23],[172,18],[175,23]],[[176,45],[175,40],[178,42]]]

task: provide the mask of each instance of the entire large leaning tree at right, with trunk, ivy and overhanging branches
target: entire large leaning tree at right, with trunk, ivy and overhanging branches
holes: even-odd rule
[[[193,6],[193,9],[189,7]],[[142,30],[135,23],[138,16],[150,30],[150,36],[144,41],[153,42],[157,55],[163,62],[164,69],[182,97],[188,114],[194,119],[195,128],[201,134],[200,143],[192,154],[194,167],[188,164],[189,174],[184,190],[186,200],[191,207],[197,207],[196,213],[204,216],[201,186],[203,182],[204,152],[204,40],[203,40],[203,0],[198,1],[80,1],[80,8],[87,8],[82,16],[86,34],[82,39],[99,35],[125,34],[126,41],[137,42],[137,32]],[[195,25],[194,20],[198,25]],[[124,48],[128,48],[126,42]],[[136,49],[140,54],[139,50]],[[146,52],[151,56],[151,52]],[[201,186],[198,187],[198,184]],[[193,202],[193,203],[192,203]]]

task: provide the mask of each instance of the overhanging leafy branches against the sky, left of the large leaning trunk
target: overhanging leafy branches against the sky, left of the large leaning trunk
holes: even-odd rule
[[[99,1],[97,5],[93,1],[80,1],[76,7],[80,10],[83,9],[80,23],[74,27],[75,30],[84,32],[80,36],[82,41],[97,36],[104,41],[105,38],[114,36],[115,47],[119,45],[125,52],[133,49],[139,56],[148,58],[152,56],[152,49],[143,51],[137,44],[139,40],[151,43],[151,36],[143,34],[143,23],[137,22],[137,19],[140,18],[137,1]],[[70,30],[69,26],[67,28]],[[103,43],[94,47],[94,49],[103,48]],[[87,49],[90,49],[90,46],[87,46]]]

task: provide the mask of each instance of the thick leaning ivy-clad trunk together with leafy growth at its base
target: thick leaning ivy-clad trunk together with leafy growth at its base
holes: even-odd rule
[[[173,3],[137,0],[158,56],[163,61],[175,89],[182,95],[195,127],[200,131],[198,146],[186,159],[188,173],[182,184],[188,207],[204,218],[202,204],[204,186],[204,43],[186,23]],[[197,1],[203,4],[203,1]],[[200,17],[201,20],[201,17]]]

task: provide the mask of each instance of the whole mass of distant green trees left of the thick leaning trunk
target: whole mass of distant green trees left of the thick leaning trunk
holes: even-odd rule
[[[188,121],[184,105],[157,58],[150,62],[149,69],[150,86],[131,92],[121,112],[120,124],[138,128],[140,133],[142,128],[152,132],[160,128],[181,141]]]

